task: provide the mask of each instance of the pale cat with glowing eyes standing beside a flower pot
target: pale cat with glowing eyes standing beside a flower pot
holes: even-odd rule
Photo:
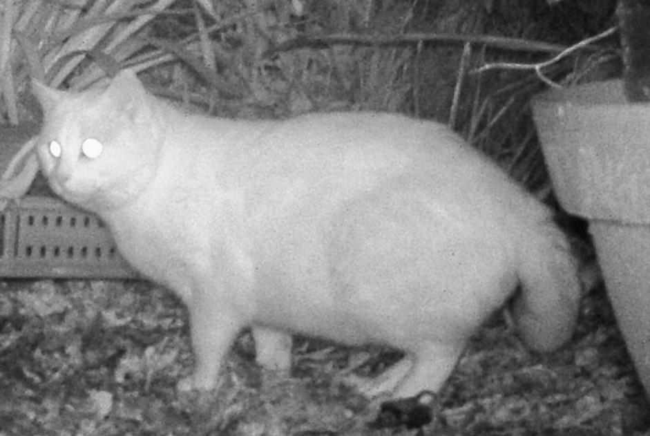
[[[522,339],[571,338],[577,263],[551,211],[437,122],[388,113],[189,115],[122,70],[82,92],[32,84],[50,187],[106,222],[122,255],[189,311],[193,374],[217,386],[236,335],[291,366],[291,333],[405,357],[368,397],[437,392],[516,294]]]

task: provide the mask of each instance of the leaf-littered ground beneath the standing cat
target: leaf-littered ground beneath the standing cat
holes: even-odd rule
[[[178,397],[191,369],[187,314],[143,282],[6,281],[0,287],[0,436],[6,435],[642,435],[650,409],[602,287],[575,337],[523,348],[495,314],[439,392],[432,424],[374,428],[339,381],[374,374],[394,350],[298,338],[291,377],[263,372],[246,333],[211,395]]]

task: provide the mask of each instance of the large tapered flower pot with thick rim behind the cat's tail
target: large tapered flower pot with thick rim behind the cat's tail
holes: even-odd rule
[[[650,392],[650,105],[620,80],[553,90],[533,117],[557,198],[589,220],[605,286]]]

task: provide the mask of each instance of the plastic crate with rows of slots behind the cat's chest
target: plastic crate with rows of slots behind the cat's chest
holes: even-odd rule
[[[138,277],[97,216],[37,196],[0,212],[0,276]]]

